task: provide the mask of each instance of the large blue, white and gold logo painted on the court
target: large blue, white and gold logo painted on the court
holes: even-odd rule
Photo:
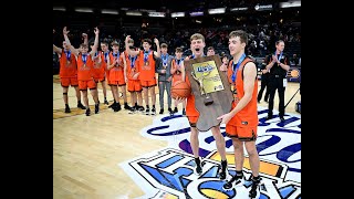
[[[259,138],[262,177],[261,198],[301,197],[301,123],[298,115],[285,115],[280,123],[274,117],[264,121],[267,109],[259,109]],[[251,187],[251,170],[246,157],[243,171],[246,182],[236,189],[225,191],[218,177],[220,155],[211,133],[199,134],[200,156],[204,157],[204,172],[194,174],[194,157],[189,144],[189,124],[186,117],[162,116],[154,124],[142,129],[142,135],[169,143],[167,148],[122,163],[119,166],[145,191],[142,198],[248,198]],[[225,135],[225,125],[221,126]],[[229,174],[235,175],[233,147],[226,137]]]

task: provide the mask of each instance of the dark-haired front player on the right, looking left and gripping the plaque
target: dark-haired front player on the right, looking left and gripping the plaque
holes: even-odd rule
[[[232,139],[236,175],[222,188],[231,190],[236,185],[243,185],[244,144],[252,171],[252,187],[249,197],[259,198],[261,179],[259,177],[259,156],[256,148],[258,78],[254,62],[244,54],[247,41],[247,33],[242,30],[232,31],[229,34],[229,50],[233,56],[233,64],[229,70],[232,70],[235,98],[231,111],[219,116],[218,119],[222,119],[221,123],[226,124],[226,135]]]

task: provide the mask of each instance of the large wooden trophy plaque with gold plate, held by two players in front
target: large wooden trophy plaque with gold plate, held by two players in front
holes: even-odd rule
[[[231,109],[232,92],[227,74],[219,70],[219,55],[202,56],[185,61],[191,92],[199,112],[197,128],[207,132],[221,123],[217,118]],[[202,84],[202,87],[200,86]]]

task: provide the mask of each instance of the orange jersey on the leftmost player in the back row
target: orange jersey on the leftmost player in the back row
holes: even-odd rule
[[[70,59],[66,57],[66,53],[62,50],[62,54],[59,60],[60,63],[60,77],[76,77],[77,66],[75,55],[70,53]]]

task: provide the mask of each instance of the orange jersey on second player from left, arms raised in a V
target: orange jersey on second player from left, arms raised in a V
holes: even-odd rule
[[[77,56],[77,80],[79,81],[93,80],[92,67],[93,67],[93,61],[91,59],[91,55],[88,53],[86,54],[86,63],[84,64],[83,55],[82,55],[82,53],[79,53],[79,56]]]

